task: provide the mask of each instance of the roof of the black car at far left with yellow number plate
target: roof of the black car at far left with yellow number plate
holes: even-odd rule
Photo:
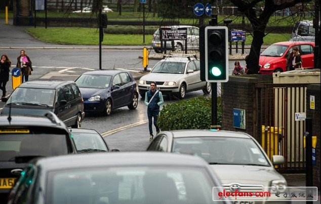
[[[23,115],[11,115],[11,121],[9,123],[8,115],[0,116],[0,127],[5,126],[42,126],[42,127],[61,127],[64,129],[64,125],[56,124],[45,116],[23,116]]]

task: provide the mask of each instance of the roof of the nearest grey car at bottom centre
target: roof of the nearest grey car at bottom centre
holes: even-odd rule
[[[204,167],[207,165],[205,160],[196,156],[165,152],[113,152],[62,155],[39,158],[36,162],[38,165],[43,166],[42,169],[45,171],[111,166],[133,167],[175,165],[183,167]]]

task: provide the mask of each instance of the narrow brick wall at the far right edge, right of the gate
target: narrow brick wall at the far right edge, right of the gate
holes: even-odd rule
[[[310,96],[315,97],[315,109],[310,109]],[[312,136],[317,137],[316,165],[313,166],[313,186],[320,186],[320,85],[309,85],[306,90],[306,116],[312,118]]]

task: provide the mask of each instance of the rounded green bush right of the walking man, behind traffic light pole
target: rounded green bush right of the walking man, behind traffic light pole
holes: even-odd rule
[[[165,105],[159,113],[158,126],[162,131],[209,129],[212,122],[211,98],[196,97]],[[218,97],[217,125],[221,125],[221,106]]]

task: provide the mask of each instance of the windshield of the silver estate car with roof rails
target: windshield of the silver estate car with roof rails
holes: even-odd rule
[[[184,74],[185,62],[161,61],[150,71],[152,73]]]

